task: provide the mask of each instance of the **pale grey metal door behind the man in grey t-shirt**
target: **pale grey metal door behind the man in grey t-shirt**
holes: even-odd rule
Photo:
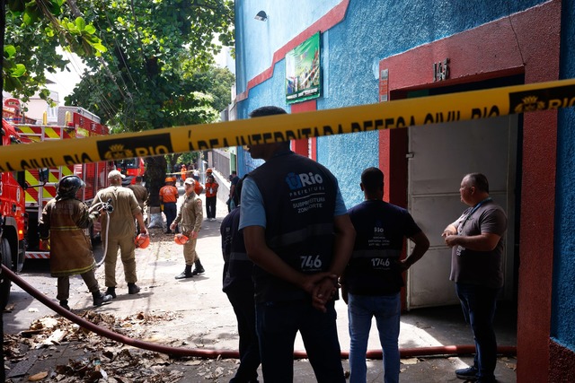
[[[466,207],[460,201],[459,185],[471,172],[487,176],[491,197],[508,213],[503,265],[504,296],[509,299],[513,293],[517,116],[410,127],[409,152],[409,210],[429,237],[430,247],[408,273],[407,308],[459,301],[449,281],[451,251],[441,233]]]

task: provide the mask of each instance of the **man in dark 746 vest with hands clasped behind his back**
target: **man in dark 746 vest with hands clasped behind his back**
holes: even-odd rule
[[[262,107],[258,118],[285,114]],[[348,263],[355,231],[338,182],[289,142],[250,145],[266,161],[243,180],[240,230],[253,281],[263,379],[293,381],[297,331],[318,382],[345,382],[332,296]]]

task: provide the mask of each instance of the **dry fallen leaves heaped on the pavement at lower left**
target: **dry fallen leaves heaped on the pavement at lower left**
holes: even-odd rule
[[[141,339],[146,326],[178,318],[177,314],[149,315],[143,312],[127,318],[97,313],[92,310],[80,314],[90,322],[121,335]],[[66,350],[67,348],[67,350]],[[163,353],[153,353],[128,347],[107,339],[70,322],[66,318],[51,316],[34,321],[29,330],[19,335],[4,336],[5,359],[13,366],[6,370],[9,382],[17,382],[40,365],[42,359],[61,360],[58,355],[75,355],[65,363],[52,363],[40,372],[34,372],[27,381],[52,380],[57,382],[177,382],[184,376],[186,366],[193,366],[201,379],[217,380],[232,374],[235,361],[217,365],[217,361],[180,358],[174,360]],[[40,362],[38,362],[40,361]],[[46,364],[46,363],[45,363]],[[227,366],[227,368],[225,367]]]

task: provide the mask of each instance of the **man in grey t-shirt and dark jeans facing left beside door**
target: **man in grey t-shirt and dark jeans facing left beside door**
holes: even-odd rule
[[[469,208],[447,225],[443,238],[451,251],[451,275],[475,341],[473,366],[456,370],[459,379],[494,383],[497,340],[493,317],[503,287],[503,235],[507,216],[489,196],[489,182],[481,173],[467,174],[459,187],[461,201]]]

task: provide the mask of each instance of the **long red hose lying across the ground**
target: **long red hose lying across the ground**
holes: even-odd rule
[[[23,291],[28,292],[33,298],[40,300],[49,309],[57,312],[57,314],[65,317],[78,326],[87,328],[94,333],[119,342],[121,344],[128,344],[132,347],[153,351],[155,353],[165,353],[172,356],[194,356],[206,359],[217,359],[219,358],[233,358],[239,359],[240,353],[237,350],[204,350],[204,349],[194,349],[194,348],[182,348],[182,347],[171,347],[162,344],[152,344],[147,342],[138,341],[137,339],[130,338],[129,336],[119,335],[107,328],[94,325],[92,322],[80,318],[73,312],[68,311],[58,305],[55,301],[50,300],[46,295],[42,294],[31,284],[24,281],[20,276],[13,273],[5,265],[2,265],[2,273],[5,273],[13,283],[16,283],[22,288]],[[431,355],[460,355],[460,354],[470,354],[475,353],[474,345],[447,345],[447,346],[437,346],[437,347],[415,347],[415,348],[401,348],[401,357],[415,357],[415,356],[431,356]],[[516,346],[499,346],[498,353],[515,355],[517,354]],[[349,358],[349,352],[341,352],[342,359]],[[305,351],[296,351],[294,353],[294,359],[307,359],[307,353]],[[367,351],[367,359],[382,359],[381,350],[369,350]]]

